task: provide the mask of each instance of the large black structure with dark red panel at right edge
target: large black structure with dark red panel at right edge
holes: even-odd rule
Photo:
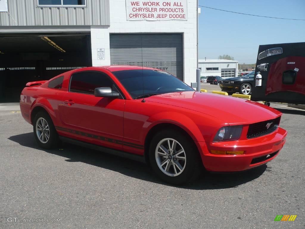
[[[251,100],[305,104],[305,42],[260,45]],[[255,79],[254,79],[255,80]]]

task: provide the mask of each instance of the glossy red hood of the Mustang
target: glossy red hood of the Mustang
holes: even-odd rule
[[[198,111],[228,124],[251,124],[282,114],[257,102],[212,93],[175,92],[150,96],[145,100]]]

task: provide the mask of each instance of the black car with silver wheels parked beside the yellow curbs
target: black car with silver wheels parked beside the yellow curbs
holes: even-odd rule
[[[243,95],[249,95],[252,92],[252,86],[254,83],[254,71],[242,77],[233,77],[222,79],[219,86],[222,91],[228,93],[239,92]]]

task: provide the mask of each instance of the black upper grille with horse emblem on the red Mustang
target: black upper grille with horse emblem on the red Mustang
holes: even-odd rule
[[[276,129],[278,129],[280,119],[281,117],[278,117],[275,119],[250,124],[247,133],[247,138],[256,138],[274,132]]]

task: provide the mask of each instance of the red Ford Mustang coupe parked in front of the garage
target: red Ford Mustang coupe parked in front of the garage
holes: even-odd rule
[[[194,180],[202,167],[231,172],[265,164],[286,141],[281,112],[195,92],[153,68],[87,67],[26,86],[20,109],[39,146],[63,140],[139,159],[172,184]]]

